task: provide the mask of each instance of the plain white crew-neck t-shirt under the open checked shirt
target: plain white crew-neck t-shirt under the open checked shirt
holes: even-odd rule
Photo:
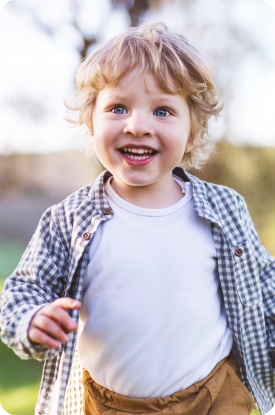
[[[121,199],[98,228],[81,306],[80,361],[122,395],[168,396],[207,376],[232,348],[210,223],[194,211],[190,183],[168,208]]]

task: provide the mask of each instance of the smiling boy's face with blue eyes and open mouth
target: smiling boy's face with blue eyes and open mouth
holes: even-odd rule
[[[93,112],[93,144],[123,192],[172,183],[172,170],[192,148],[190,113],[180,95],[163,92],[150,73],[134,68],[115,87],[100,90]]]

